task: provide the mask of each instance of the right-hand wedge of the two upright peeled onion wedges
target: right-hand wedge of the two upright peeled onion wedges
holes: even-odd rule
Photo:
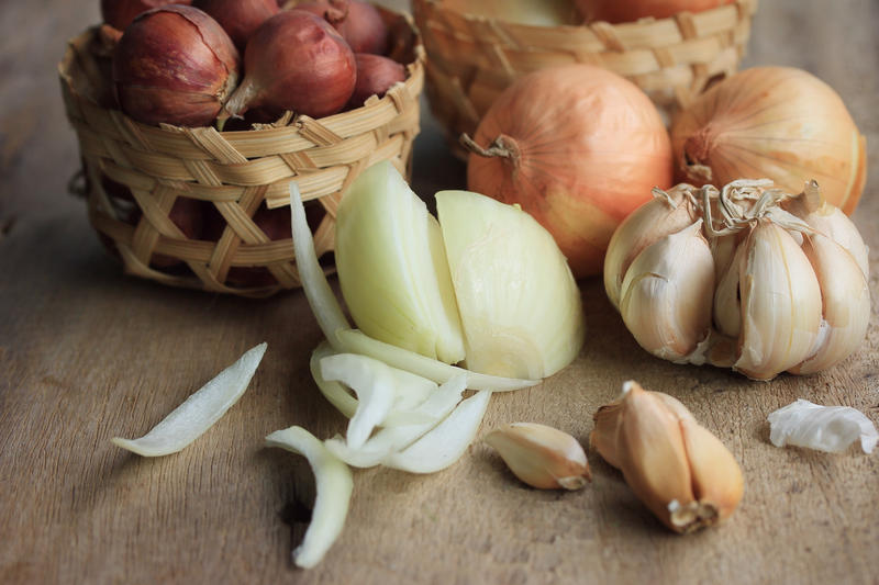
[[[464,327],[467,367],[539,379],[580,352],[580,291],[553,236],[519,206],[469,191],[436,193]]]

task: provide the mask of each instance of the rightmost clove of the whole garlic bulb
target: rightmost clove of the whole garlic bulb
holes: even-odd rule
[[[823,319],[812,355],[790,369],[797,374],[826,370],[852,355],[870,323],[870,291],[857,260],[821,234],[809,235],[803,251],[821,285]]]

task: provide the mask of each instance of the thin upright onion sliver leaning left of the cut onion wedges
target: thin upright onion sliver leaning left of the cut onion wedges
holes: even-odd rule
[[[302,204],[302,194],[296,181],[290,181],[290,226],[292,228],[293,251],[296,254],[296,268],[311,305],[311,311],[318,319],[323,335],[330,345],[341,349],[336,339],[338,329],[351,329],[348,319],[342,312],[326,275],[318,261],[314,251],[314,240],[305,220],[305,206]]]

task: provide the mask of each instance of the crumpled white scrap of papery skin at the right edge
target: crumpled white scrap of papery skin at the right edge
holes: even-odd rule
[[[769,440],[776,447],[792,445],[842,453],[860,439],[865,453],[879,442],[876,426],[849,406],[821,406],[802,398],[769,415]]]

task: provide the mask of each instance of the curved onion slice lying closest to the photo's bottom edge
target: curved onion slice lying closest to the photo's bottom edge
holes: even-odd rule
[[[297,566],[311,569],[321,562],[345,526],[354,488],[351,468],[302,427],[276,430],[266,437],[266,445],[304,455],[314,472],[318,495],[314,498],[311,522],[302,542],[293,550],[293,562]]]

